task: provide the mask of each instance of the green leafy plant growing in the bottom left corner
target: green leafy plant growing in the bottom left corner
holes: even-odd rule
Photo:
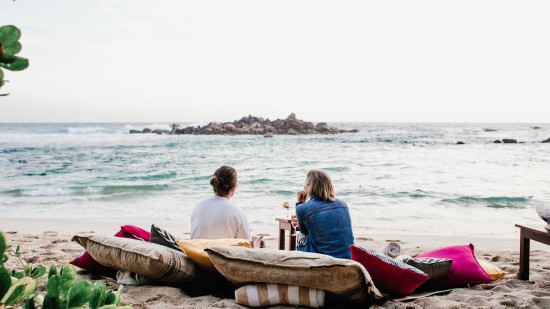
[[[6,238],[0,232],[0,309],[130,309],[120,307],[123,291],[122,285],[117,292],[107,291],[104,282],[92,285],[89,281],[76,282],[76,269],[73,265],[66,265],[59,273],[52,265],[46,274],[44,266],[32,267],[32,264],[23,263],[23,272],[6,268],[4,263],[8,256],[4,254],[8,249]],[[15,254],[19,258],[19,246]],[[37,295],[38,283],[48,280],[46,294]]]

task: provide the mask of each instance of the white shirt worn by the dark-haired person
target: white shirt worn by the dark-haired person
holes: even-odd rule
[[[191,213],[191,239],[242,238],[248,241],[246,214],[225,197],[214,195],[198,203]]]

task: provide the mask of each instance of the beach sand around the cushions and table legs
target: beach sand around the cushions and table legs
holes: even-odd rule
[[[23,259],[34,265],[61,267],[80,254],[80,245],[71,242],[75,234],[114,235],[121,225],[131,224],[149,230],[151,223],[168,230],[177,237],[188,238],[188,227],[173,221],[145,222],[128,220],[50,220],[0,218],[0,230],[8,245],[21,246]],[[541,224],[542,226],[542,224]],[[267,246],[276,248],[277,234],[267,236]],[[419,298],[409,302],[387,300],[375,308],[550,308],[550,246],[531,242],[530,280],[517,279],[519,265],[518,239],[489,239],[473,237],[438,237],[414,235],[356,235],[356,244],[378,250],[386,241],[398,242],[402,253],[417,254],[452,245],[474,244],[478,259],[484,259],[508,273],[504,279],[471,288],[453,289],[445,295]],[[31,251],[34,250],[34,253]],[[8,252],[10,253],[10,252]],[[8,267],[22,268],[13,253]],[[79,279],[105,281],[116,289],[114,279],[97,277],[78,271]],[[40,287],[44,289],[44,286]],[[211,295],[191,297],[180,289],[163,286],[125,286],[122,304],[133,308],[246,308],[233,299]],[[344,307],[344,306],[343,306]],[[271,308],[295,308],[273,306]]]

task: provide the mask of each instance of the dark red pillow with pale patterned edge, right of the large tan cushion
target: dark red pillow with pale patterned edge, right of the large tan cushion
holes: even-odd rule
[[[351,245],[350,251],[351,259],[367,269],[374,285],[383,292],[409,295],[428,280],[421,270],[373,250]]]

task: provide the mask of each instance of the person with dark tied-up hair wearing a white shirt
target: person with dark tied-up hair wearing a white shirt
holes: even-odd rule
[[[199,202],[191,213],[191,239],[241,238],[254,246],[258,241],[250,235],[246,213],[229,201],[237,189],[237,171],[221,166],[210,178],[210,184],[214,196]],[[259,240],[262,247],[263,240]]]

